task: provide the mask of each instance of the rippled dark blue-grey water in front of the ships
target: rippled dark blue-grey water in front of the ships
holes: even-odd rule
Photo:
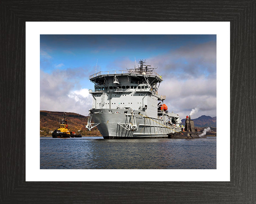
[[[40,169],[216,169],[216,137],[41,137]]]

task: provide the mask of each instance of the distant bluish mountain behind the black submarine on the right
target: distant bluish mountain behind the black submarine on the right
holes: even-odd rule
[[[185,120],[182,119],[182,125],[185,125]],[[217,117],[210,117],[206,115],[202,115],[199,118],[191,119],[194,121],[194,126],[199,127],[199,128],[207,128],[207,127],[212,127],[212,128],[217,128]]]

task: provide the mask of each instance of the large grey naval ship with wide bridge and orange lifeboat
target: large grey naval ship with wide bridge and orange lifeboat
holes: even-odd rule
[[[98,72],[86,128],[96,127],[103,138],[167,138],[183,127],[178,114],[168,112],[166,96],[159,95],[163,81],[156,68],[140,60],[133,69]]]

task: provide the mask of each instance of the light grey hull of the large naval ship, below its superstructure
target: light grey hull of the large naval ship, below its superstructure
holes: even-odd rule
[[[163,119],[146,117],[143,111],[133,111],[138,130],[127,128],[131,114],[129,109],[91,109],[90,112],[105,139],[168,138],[168,134],[181,131],[174,130]]]

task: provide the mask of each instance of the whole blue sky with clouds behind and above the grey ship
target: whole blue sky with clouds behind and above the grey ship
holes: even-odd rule
[[[89,75],[146,60],[169,112],[215,117],[216,54],[216,35],[40,35],[40,110],[88,115]]]

